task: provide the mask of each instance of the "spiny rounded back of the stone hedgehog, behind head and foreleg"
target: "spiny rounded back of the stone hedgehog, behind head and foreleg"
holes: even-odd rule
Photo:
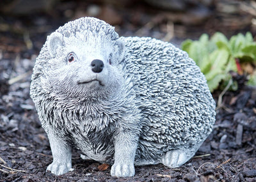
[[[215,102],[204,75],[188,54],[154,38],[122,38],[124,72],[133,77],[143,128],[137,155],[201,144],[212,131]]]

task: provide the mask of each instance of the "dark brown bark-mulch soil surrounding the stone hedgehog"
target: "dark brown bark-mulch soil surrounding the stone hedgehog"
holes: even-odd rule
[[[244,86],[244,77],[236,74],[234,79],[241,83],[239,89],[224,94],[216,109],[214,131],[195,157],[182,167],[169,169],[161,164],[148,165],[136,167],[136,174],[132,178],[113,178],[108,165],[84,161],[79,151],[74,150],[74,171],[61,176],[46,172],[47,165],[52,162],[51,149],[29,97],[30,75],[46,35],[70,19],[64,16],[68,12],[61,13],[67,6],[74,12],[78,11],[77,6],[65,1],[52,14],[1,16],[0,181],[256,181],[256,89]],[[137,16],[131,17],[129,13],[136,11]],[[170,38],[170,42],[179,45],[184,38],[197,38],[200,33],[214,32],[214,29],[209,30],[207,23],[206,26],[183,28],[177,24],[180,29],[190,27],[195,31],[187,36],[186,33],[179,37],[177,34],[174,37],[166,36],[168,24],[163,17],[141,12],[145,12],[141,4],[139,8],[129,11],[114,11],[122,15],[121,20],[115,20],[118,33],[165,40]],[[141,26],[143,22],[153,23]],[[250,27],[238,31],[248,29]],[[220,93],[216,91],[213,94],[216,103]]]

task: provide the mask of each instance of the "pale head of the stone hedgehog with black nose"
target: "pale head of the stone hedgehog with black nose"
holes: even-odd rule
[[[86,17],[68,22],[47,37],[45,51],[36,64],[43,65],[40,80],[46,93],[99,98],[113,95],[122,84],[119,63],[125,45],[102,20]]]

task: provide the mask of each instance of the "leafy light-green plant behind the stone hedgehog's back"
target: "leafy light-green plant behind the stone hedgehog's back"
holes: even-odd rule
[[[211,38],[202,34],[199,40],[185,40],[181,47],[200,67],[211,91],[227,86],[232,79],[230,71],[248,75],[247,84],[256,86],[256,42],[253,42],[251,33],[239,33],[230,40],[219,32]],[[232,82],[230,89],[237,89],[236,81]]]

